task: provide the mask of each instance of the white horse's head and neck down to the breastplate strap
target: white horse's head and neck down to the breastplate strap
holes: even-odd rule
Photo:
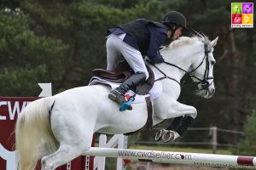
[[[197,83],[199,90],[196,94],[211,98],[215,92],[213,82],[213,48],[218,41],[212,42],[198,32],[193,37],[179,37],[169,46],[160,50],[166,65],[160,65],[165,77],[179,83],[184,74],[188,74]],[[170,69],[170,65],[174,69]],[[160,70],[160,69],[159,69]]]

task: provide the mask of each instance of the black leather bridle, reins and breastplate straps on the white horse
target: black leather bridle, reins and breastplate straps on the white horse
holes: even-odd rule
[[[195,69],[192,70],[192,71],[185,71],[183,68],[181,68],[181,67],[179,67],[179,66],[177,66],[177,65],[173,65],[172,63],[169,63],[169,62],[166,62],[166,61],[164,61],[164,63],[165,63],[166,65],[171,65],[171,66],[176,67],[177,69],[179,69],[179,70],[181,70],[181,71],[184,71],[187,75],[189,75],[189,77],[195,78],[196,80],[198,80],[198,82],[195,82],[195,83],[196,83],[197,85],[201,83],[201,88],[202,88],[202,89],[207,89],[207,88],[212,84],[212,82],[213,82],[213,81],[212,81],[211,84],[210,84],[210,83],[208,82],[208,80],[211,80],[211,79],[213,79],[214,77],[209,77],[209,69],[210,69],[210,67],[209,67],[209,53],[210,53],[210,50],[208,49],[207,44],[205,44],[204,47],[205,47],[205,55],[204,55],[204,58],[201,60],[201,63],[200,63],[197,67],[195,67]],[[204,62],[205,60],[206,60],[206,70],[205,70],[203,79],[201,79],[201,78],[199,78],[199,77],[195,77],[195,75],[194,75],[193,73],[203,64],[203,62]],[[168,78],[168,79],[173,80],[174,82],[177,82],[179,85],[181,85],[181,83],[178,82],[175,78],[168,77],[165,72],[161,71],[160,68],[158,68],[156,65],[154,65],[154,63],[152,63],[150,60],[147,59],[147,61],[148,61],[148,63],[149,63],[150,65],[153,65],[154,68],[156,68],[158,71],[160,71],[160,73],[162,73],[162,74],[164,75],[164,77],[160,77],[160,78],[154,80],[154,82],[157,82],[157,81],[160,81],[160,80],[163,80],[163,79]]]

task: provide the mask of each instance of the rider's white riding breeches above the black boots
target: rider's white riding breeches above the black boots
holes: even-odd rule
[[[123,42],[124,37],[125,33],[120,35],[110,34],[108,36],[106,42],[107,70],[113,71],[119,64],[119,61],[125,58],[133,71],[145,73],[146,79],[148,79],[148,71],[143,60],[143,55],[136,48],[132,48],[129,44]]]

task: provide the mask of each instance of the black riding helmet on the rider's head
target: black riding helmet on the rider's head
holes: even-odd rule
[[[173,26],[182,26],[184,29],[187,29],[187,20],[185,16],[177,11],[167,13],[164,19],[162,20],[162,23],[168,28],[171,28]]]

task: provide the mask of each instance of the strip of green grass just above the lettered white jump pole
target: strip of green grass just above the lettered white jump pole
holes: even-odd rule
[[[161,151],[174,151],[174,152],[192,152],[192,153],[205,153],[212,154],[211,149],[198,149],[198,148],[182,148],[170,146],[145,146],[145,145],[131,145],[129,149],[134,150],[161,150]],[[232,155],[231,150],[217,150],[216,154]]]

